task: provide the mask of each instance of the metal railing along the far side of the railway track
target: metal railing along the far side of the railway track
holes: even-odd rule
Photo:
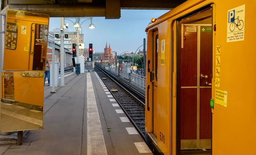
[[[127,71],[124,70],[119,70],[115,68],[115,66],[108,66],[108,65],[100,65],[102,69],[111,72],[112,74],[120,77],[121,79],[123,79],[126,82],[129,82],[135,86],[137,86],[140,89],[145,90],[145,82],[146,82],[146,77],[145,76],[141,76],[138,74],[134,74],[134,73],[129,73]]]

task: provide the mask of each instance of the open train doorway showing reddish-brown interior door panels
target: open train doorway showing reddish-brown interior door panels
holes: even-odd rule
[[[197,154],[197,149],[211,148],[211,9],[181,19],[179,38],[180,152],[186,154],[184,150],[194,149],[193,154]]]

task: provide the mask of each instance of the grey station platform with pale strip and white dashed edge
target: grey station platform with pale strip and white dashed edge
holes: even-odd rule
[[[67,73],[65,85],[45,86],[44,129],[0,154],[152,154],[96,72]]]

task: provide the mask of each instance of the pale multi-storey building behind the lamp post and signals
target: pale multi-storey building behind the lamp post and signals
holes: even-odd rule
[[[52,32],[50,32],[54,35],[55,43],[60,44],[60,29],[54,28]],[[58,34],[59,37],[56,38],[55,34]],[[64,36],[64,48],[69,49],[72,51],[72,44],[77,43],[77,35],[76,32],[68,32],[68,29],[64,29],[64,34],[68,35],[68,38],[65,38]],[[79,43],[83,43],[83,34],[79,34]],[[84,49],[79,49],[79,54],[84,55],[85,50]]]

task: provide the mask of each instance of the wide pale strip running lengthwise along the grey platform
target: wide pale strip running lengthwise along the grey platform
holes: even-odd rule
[[[108,154],[100,124],[91,73],[87,73],[87,154]]]

